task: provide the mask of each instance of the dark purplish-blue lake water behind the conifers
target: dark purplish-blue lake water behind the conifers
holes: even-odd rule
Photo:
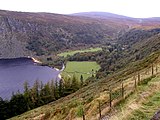
[[[35,80],[44,84],[56,80],[59,71],[40,66],[30,58],[0,59],[0,97],[10,99],[12,92],[23,92],[24,82],[32,86]]]

